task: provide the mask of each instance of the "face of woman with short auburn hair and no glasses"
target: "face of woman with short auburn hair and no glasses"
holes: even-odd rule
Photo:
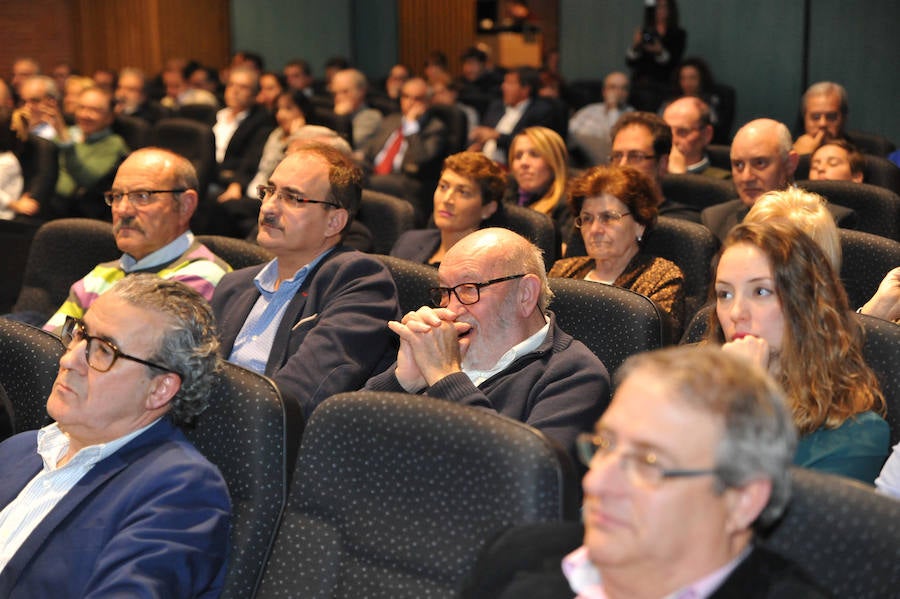
[[[497,202],[481,204],[478,184],[444,169],[434,190],[434,224],[443,232],[474,231],[497,209]]]

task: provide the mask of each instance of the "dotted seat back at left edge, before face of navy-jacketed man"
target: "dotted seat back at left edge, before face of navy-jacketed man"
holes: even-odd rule
[[[12,432],[41,428],[50,421],[47,398],[64,351],[56,335],[0,318],[0,386],[12,408]]]

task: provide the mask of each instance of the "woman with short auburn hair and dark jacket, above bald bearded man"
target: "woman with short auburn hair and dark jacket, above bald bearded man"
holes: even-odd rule
[[[502,212],[506,176],[481,152],[459,152],[444,160],[434,190],[434,229],[403,233],[391,256],[440,266],[447,251]]]

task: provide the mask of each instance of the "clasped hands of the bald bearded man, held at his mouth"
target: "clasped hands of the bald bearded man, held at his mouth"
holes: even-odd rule
[[[388,322],[388,328],[400,337],[394,373],[407,392],[421,391],[447,375],[461,372],[469,340],[460,335],[472,325],[458,321],[458,316],[449,308],[422,306],[408,312],[400,322]]]

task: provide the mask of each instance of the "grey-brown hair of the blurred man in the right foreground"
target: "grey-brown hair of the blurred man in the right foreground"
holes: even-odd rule
[[[637,354],[616,373],[618,383],[629,376],[663,381],[678,401],[721,418],[717,491],[767,479],[772,491],[755,525],[778,519],[791,496],[797,431],[777,383],[748,361],[711,345]]]

